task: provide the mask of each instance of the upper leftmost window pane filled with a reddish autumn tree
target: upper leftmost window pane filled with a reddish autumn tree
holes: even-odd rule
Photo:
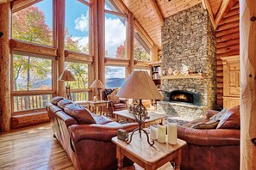
[[[53,1],[44,0],[13,13],[12,38],[53,46]]]

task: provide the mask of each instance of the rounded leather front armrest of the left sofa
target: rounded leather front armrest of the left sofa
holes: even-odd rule
[[[109,141],[117,136],[117,130],[134,131],[138,127],[136,123],[118,124],[110,122],[109,124],[74,124],[69,127],[72,141],[77,143],[81,140]]]

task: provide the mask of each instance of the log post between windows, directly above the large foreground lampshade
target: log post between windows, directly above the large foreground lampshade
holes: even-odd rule
[[[129,59],[128,76],[134,70],[134,15],[129,12],[128,14],[128,31],[126,36],[126,56]]]

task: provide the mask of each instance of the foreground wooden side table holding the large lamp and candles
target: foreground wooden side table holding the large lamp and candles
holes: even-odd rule
[[[112,138],[112,142],[116,143],[116,158],[118,161],[118,169],[122,169],[122,160],[127,156],[130,160],[136,162],[144,169],[157,169],[169,161],[175,162],[175,169],[180,169],[181,149],[186,142],[178,139],[176,145],[168,143],[158,143],[155,141],[153,147],[147,143],[147,137],[144,133],[134,133],[132,143],[125,143],[117,137]]]

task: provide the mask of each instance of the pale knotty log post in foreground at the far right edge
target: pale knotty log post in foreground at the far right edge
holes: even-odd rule
[[[240,169],[256,169],[256,1],[240,0]]]

